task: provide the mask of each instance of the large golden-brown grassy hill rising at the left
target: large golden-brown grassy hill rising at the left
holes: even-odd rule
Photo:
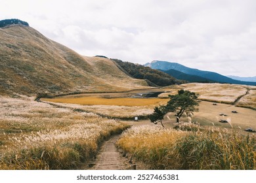
[[[148,88],[107,58],[83,57],[32,27],[0,28],[0,95],[113,92]]]

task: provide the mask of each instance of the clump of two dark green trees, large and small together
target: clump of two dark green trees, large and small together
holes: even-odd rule
[[[157,124],[158,122],[163,123],[163,116],[167,114],[167,112],[176,112],[177,123],[179,123],[179,119],[181,118],[184,112],[194,112],[198,111],[196,106],[199,105],[198,94],[194,92],[190,92],[188,90],[179,90],[177,95],[169,95],[170,100],[167,105],[161,107],[155,107],[154,113],[150,115],[150,121]]]

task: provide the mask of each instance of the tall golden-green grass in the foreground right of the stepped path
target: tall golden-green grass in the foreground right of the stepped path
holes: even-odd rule
[[[255,136],[213,127],[198,132],[132,127],[117,145],[149,169],[256,169]]]

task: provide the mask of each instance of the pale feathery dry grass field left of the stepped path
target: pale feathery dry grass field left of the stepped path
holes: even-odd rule
[[[0,98],[0,169],[77,169],[128,126],[30,98]]]

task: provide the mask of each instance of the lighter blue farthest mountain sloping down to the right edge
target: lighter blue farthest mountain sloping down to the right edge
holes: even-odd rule
[[[151,63],[146,63],[145,66],[151,67],[152,69],[160,69],[163,71],[168,71],[170,69],[180,71],[187,75],[200,76],[202,78],[206,78],[208,80],[213,80],[215,82],[220,83],[229,83],[229,84],[246,84],[246,85],[256,85],[256,82],[245,82],[240,80],[234,80],[232,78],[228,78],[227,76],[220,75],[218,73],[210,72],[210,71],[201,71],[199,69],[192,69],[189,67],[185,67],[179,63],[172,63],[168,61],[152,61]]]

